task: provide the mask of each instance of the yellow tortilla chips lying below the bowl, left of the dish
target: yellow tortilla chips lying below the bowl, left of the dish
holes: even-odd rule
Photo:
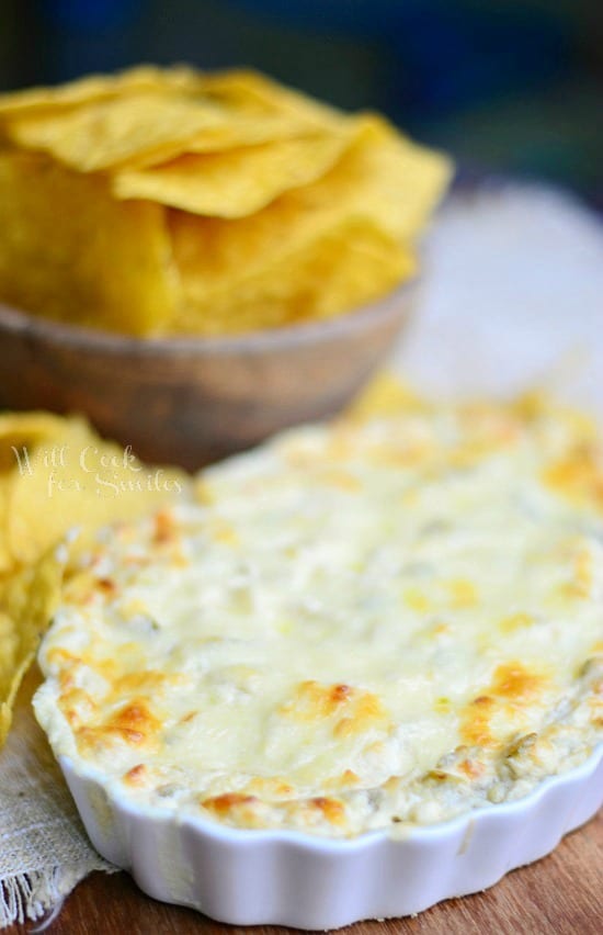
[[[141,464],[82,419],[0,415],[0,746],[58,596],[57,543],[78,528],[73,548],[83,549],[99,526],[143,516],[187,485],[183,472]]]

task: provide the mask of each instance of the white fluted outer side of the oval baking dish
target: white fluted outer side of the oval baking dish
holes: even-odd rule
[[[603,746],[523,799],[397,840],[232,829],[128,804],[92,768],[59,758],[88,834],[141,890],[234,925],[338,928],[421,912],[487,889],[549,854],[603,803]]]

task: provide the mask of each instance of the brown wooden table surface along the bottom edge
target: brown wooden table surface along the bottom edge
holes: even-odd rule
[[[2,935],[25,935],[33,925]],[[48,935],[265,935],[272,926],[236,928],[144,895],[126,874],[94,874],[66,901]],[[448,900],[414,919],[364,922],[345,935],[600,935],[603,932],[603,813],[568,835],[549,857],[509,874],[492,889]]]

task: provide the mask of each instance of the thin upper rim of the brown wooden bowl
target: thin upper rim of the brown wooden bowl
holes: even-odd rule
[[[56,322],[0,301],[0,334],[8,331],[11,335],[61,347],[103,351],[115,356],[137,354],[143,358],[169,357],[173,353],[194,353],[200,357],[228,356],[243,351],[263,353],[266,350],[317,343],[344,334],[363,331],[374,322],[401,317],[399,300],[413,294],[418,279],[418,275],[410,277],[380,298],[349,312],[339,313],[332,318],[300,322],[284,325],[282,328],[241,331],[235,335],[135,337],[84,325]]]

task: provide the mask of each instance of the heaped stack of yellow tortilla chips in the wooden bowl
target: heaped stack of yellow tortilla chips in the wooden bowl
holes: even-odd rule
[[[416,270],[448,160],[251,71],[0,97],[0,301],[141,337],[326,318]]]

